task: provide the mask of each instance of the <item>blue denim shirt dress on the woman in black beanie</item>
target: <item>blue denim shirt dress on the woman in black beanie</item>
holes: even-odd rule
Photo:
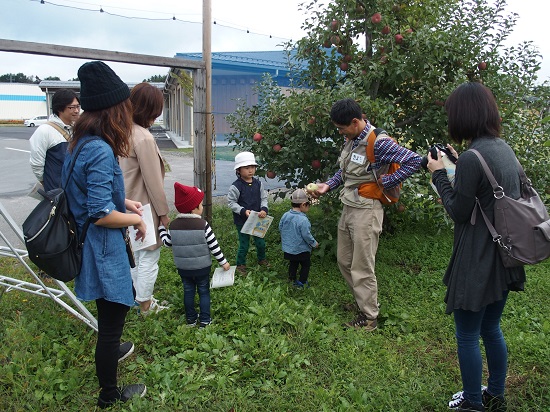
[[[61,174],[63,184],[78,147],[91,138],[83,137],[75,150],[67,154]],[[88,217],[97,220],[113,210],[126,211],[122,170],[113,150],[102,139],[82,148],[65,190],[79,231]],[[134,304],[130,263],[121,229],[90,224],[84,241],[82,268],[75,278],[75,292],[85,301],[103,298],[127,306]]]

